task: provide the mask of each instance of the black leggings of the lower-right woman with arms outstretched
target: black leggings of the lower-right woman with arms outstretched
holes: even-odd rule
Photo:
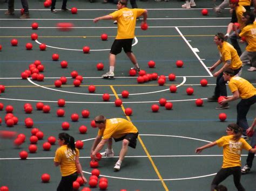
[[[245,188],[242,187],[240,179],[241,179],[241,167],[235,166],[230,168],[221,168],[220,171],[215,175],[211,190],[214,190],[216,186],[219,185],[220,182],[224,181],[228,176],[233,175],[233,180],[235,187],[237,187],[237,190],[244,191]]]

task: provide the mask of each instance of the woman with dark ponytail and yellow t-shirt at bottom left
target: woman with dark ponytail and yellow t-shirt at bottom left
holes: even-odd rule
[[[59,182],[57,191],[73,190],[73,181],[76,181],[78,174],[84,183],[87,182],[79,162],[79,150],[75,147],[75,140],[68,133],[59,133],[59,148],[55,153],[54,164],[60,165],[62,179]]]

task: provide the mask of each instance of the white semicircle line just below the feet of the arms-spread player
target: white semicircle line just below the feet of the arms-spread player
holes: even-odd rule
[[[48,88],[48,87],[44,87],[44,86],[41,86],[35,82],[33,82],[30,78],[28,78],[28,81],[38,87],[41,87],[41,88],[45,88],[45,89],[49,89],[49,90],[53,90],[53,91],[60,91],[60,92],[63,92],[63,93],[69,93],[69,94],[80,94],[80,95],[97,95],[97,96],[102,96],[103,94],[88,94],[88,93],[78,93],[78,92],[73,92],[73,91],[64,91],[64,90],[59,90],[59,89],[53,89],[53,88]],[[186,82],[186,77],[183,77],[183,82],[181,82],[177,87],[180,87],[182,86],[184,83]],[[146,92],[146,93],[137,93],[137,94],[130,94],[130,95],[144,95],[144,94],[154,94],[154,93],[159,93],[161,91],[167,91],[169,90],[168,89],[164,89],[164,90],[159,90],[159,91],[151,91],[151,92]],[[121,94],[117,94],[118,96],[120,96]],[[110,94],[110,96],[114,96],[114,94]]]

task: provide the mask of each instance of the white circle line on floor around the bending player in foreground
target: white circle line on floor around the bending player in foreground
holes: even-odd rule
[[[207,142],[207,143],[212,143],[208,140],[203,140],[203,139],[197,139],[197,138],[192,138],[192,137],[184,137],[184,136],[172,136],[172,135],[152,135],[152,134],[141,134],[139,136],[159,136],[159,137],[178,137],[178,138],[185,138],[185,139],[192,139],[192,140],[199,140],[201,142]],[[91,139],[85,139],[82,140],[82,142],[86,142],[87,140],[93,140],[95,138],[91,138]],[[83,171],[86,174],[91,174],[91,172],[86,172]],[[202,175],[202,176],[194,176],[194,177],[186,177],[186,178],[177,178],[177,179],[163,179],[164,181],[169,181],[169,180],[189,180],[189,179],[198,179],[198,178],[204,178],[207,176],[213,176],[217,173],[212,173],[212,174],[207,174],[207,175]],[[117,177],[117,176],[109,176],[109,175],[103,175],[100,174],[100,176],[104,176],[107,178],[113,178],[113,179],[122,179],[122,180],[142,180],[142,181],[160,181],[160,179],[133,179],[133,178],[123,178],[123,177]]]

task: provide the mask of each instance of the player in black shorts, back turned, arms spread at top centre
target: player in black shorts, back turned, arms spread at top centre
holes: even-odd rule
[[[102,77],[109,79],[114,77],[114,66],[116,64],[116,55],[122,51],[129,57],[131,62],[134,65],[134,68],[139,72],[139,65],[136,59],[136,56],[132,53],[132,40],[135,37],[135,25],[136,18],[143,15],[143,23],[146,24],[147,19],[147,10],[145,9],[129,9],[127,8],[127,0],[120,0],[117,3],[117,11],[105,15],[102,17],[97,17],[93,22],[98,22],[99,20],[117,20],[117,36],[114,40],[110,55],[109,55],[109,72],[103,74]]]

